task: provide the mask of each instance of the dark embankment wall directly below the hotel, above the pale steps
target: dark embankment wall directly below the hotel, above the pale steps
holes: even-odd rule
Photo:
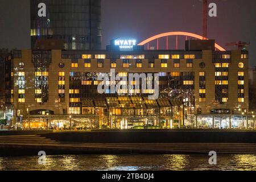
[[[76,143],[256,143],[253,130],[96,130],[40,136]]]

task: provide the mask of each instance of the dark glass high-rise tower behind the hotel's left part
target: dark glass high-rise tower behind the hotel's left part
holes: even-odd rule
[[[64,49],[101,48],[101,0],[31,0],[31,48],[62,39]]]

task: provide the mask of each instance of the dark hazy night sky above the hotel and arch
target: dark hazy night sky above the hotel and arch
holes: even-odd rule
[[[250,65],[256,66],[256,1],[209,0],[211,2],[217,4],[217,18],[209,18],[208,37],[216,39],[222,47],[239,40],[250,42]],[[102,49],[110,40],[121,36],[140,42],[170,31],[201,35],[201,4],[200,0],[102,0]],[[30,48],[29,9],[28,0],[0,0],[0,48]],[[170,44],[174,49],[175,42]],[[184,48],[183,38],[179,48]]]

